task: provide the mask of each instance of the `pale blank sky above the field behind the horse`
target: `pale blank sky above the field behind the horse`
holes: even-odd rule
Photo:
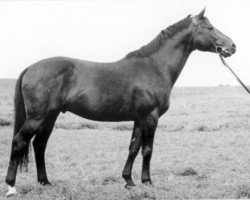
[[[227,58],[250,85],[249,0],[1,1],[0,78],[17,78],[53,56],[113,62],[151,41],[162,29],[206,6],[211,23],[232,38]],[[178,86],[238,85],[216,54],[195,51]]]

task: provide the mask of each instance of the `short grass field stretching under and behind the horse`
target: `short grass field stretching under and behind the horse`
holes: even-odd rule
[[[0,80],[0,199],[13,129],[14,80]],[[250,198],[250,97],[240,87],[175,88],[159,122],[151,161],[154,187],[121,178],[132,123],[98,123],[61,114],[46,151],[52,187],[36,183],[34,155],[18,173],[8,199],[237,199]],[[33,154],[33,152],[32,152]],[[192,173],[191,173],[192,172]]]

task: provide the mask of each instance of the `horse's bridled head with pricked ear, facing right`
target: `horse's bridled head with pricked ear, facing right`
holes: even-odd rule
[[[210,51],[223,55],[231,56],[236,52],[234,42],[216,29],[204,16],[205,9],[200,14],[192,17],[195,27],[195,48],[201,51]]]

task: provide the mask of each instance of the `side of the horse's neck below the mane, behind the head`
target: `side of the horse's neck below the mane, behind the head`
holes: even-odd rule
[[[193,50],[192,33],[186,31],[167,39],[164,46],[150,57],[158,64],[166,78],[171,80],[173,86]]]

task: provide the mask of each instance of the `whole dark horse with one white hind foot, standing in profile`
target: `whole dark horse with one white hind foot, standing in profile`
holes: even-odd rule
[[[131,170],[141,148],[141,180],[152,184],[150,159],[157,122],[169,108],[172,87],[189,55],[196,49],[224,57],[236,51],[233,41],[214,28],[204,12],[169,26],[114,63],[54,57],[25,69],[16,84],[7,195],[15,193],[18,165],[28,164],[33,137],[38,182],[50,184],[44,153],[59,113],[67,111],[97,121],[134,121],[122,177],[126,186],[134,186]]]

